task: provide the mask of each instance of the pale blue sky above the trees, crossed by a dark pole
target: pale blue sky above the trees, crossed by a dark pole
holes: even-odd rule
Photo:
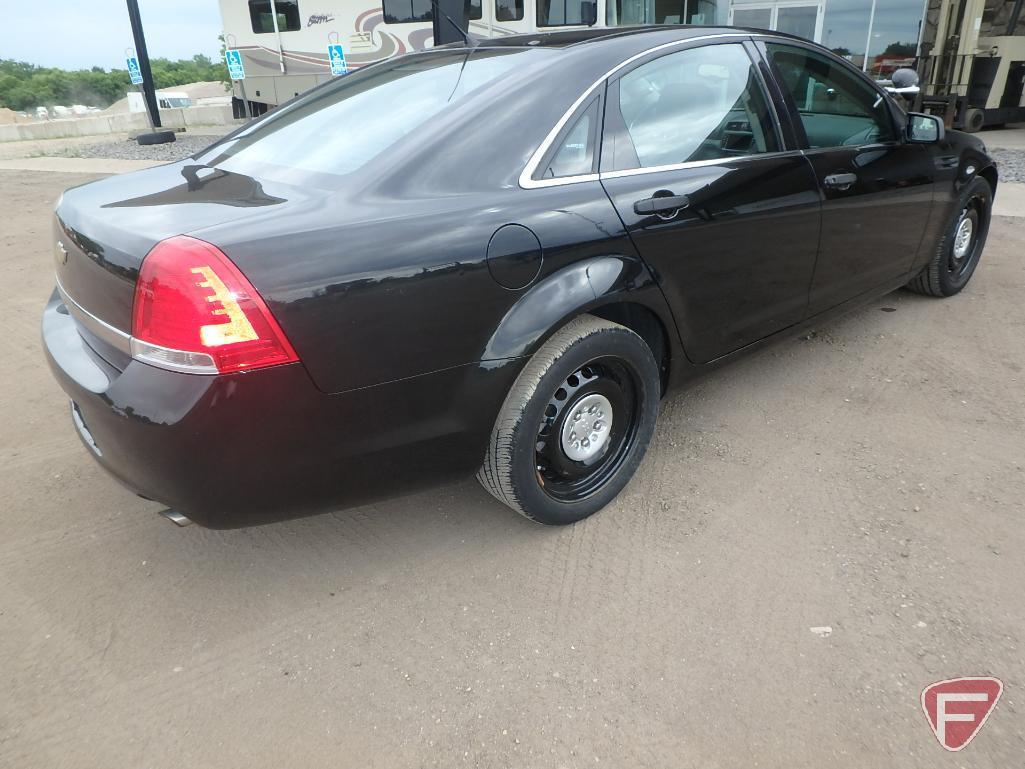
[[[125,66],[132,45],[125,0],[0,0],[0,58],[66,70]],[[216,57],[217,0],[138,0],[153,58]]]

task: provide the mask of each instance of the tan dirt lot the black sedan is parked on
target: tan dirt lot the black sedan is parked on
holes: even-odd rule
[[[0,172],[0,766],[1022,766],[1025,218],[960,296],[671,398],[577,526],[467,481],[215,532],[95,467],[45,368],[83,180]],[[952,756],[918,697],[961,675],[1006,689]]]

